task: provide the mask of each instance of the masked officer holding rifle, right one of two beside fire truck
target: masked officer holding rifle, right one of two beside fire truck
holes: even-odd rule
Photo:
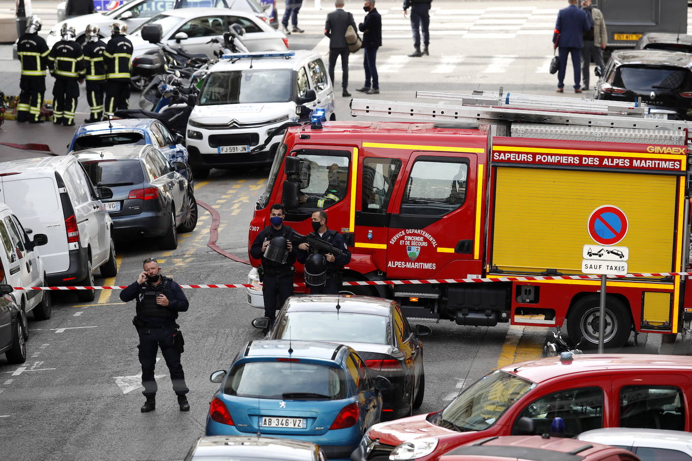
[[[335,230],[327,228],[327,212],[314,211],[312,214],[313,232],[307,236],[297,234],[298,248],[309,252],[305,261],[305,283],[310,285],[310,293],[338,294],[343,276],[343,268],[351,261],[346,241]]]

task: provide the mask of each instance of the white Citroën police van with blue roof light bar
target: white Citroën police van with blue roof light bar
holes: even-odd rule
[[[212,168],[269,164],[281,141],[266,149],[267,131],[297,121],[295,108],[324,108],[334,118],[334,91],[319,53],[295,50],[236,53],[212,66],[204,77],[186,132],[195,178]]]

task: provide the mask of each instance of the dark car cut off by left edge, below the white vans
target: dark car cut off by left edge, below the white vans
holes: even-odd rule
[[[0,274],[5,279],[4,271]],[[5,353],[10,364],[24,364],[26,344],[24,343],[24,312],[10,297],[12,285],[0,285],[0,354]]]

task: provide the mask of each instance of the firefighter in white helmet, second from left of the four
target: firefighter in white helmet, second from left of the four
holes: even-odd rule
[[[48,54],[48,68],[55,77],[53,84],[53,123],[73,126],[80,82],[84,79],[84,55],[75,41],[75,28],[67,23],[60,28],[62,40]]]

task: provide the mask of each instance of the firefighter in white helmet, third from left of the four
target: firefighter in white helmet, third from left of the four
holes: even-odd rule
[[[86,100],[91,113],[86,123],[98,122],[103,118],[103,96],[106,92],[106,66],[103,52],[106,44],[98,37],[99,28],[95,24],[86,26],[86,45],[84,63],[86,64]]]

